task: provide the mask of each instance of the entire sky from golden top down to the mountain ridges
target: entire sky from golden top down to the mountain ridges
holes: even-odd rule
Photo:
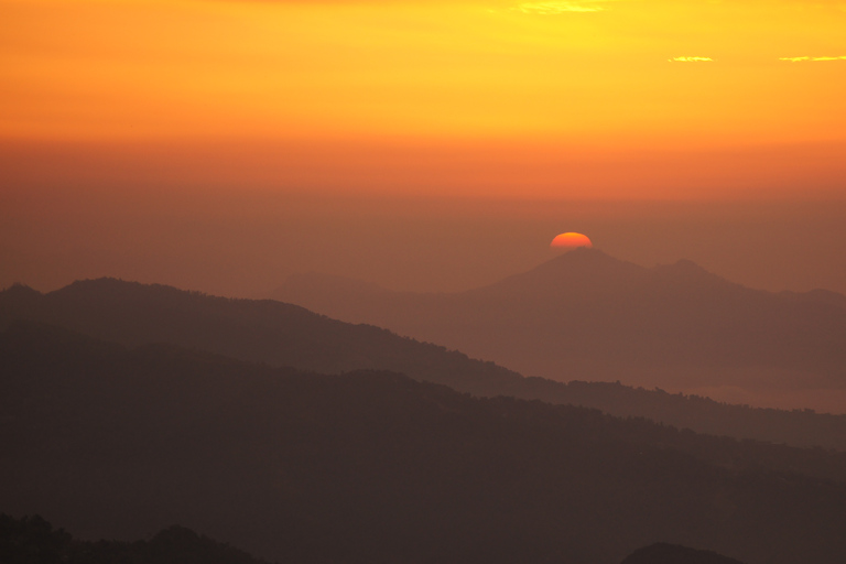
[[[846,292],[846,1],[0,0],[0,286]]]

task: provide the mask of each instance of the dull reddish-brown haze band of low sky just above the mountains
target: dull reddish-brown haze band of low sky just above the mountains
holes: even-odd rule
[[[640,264],[691,260],[771,292],[846,293],[846,202],[531,202],[186,191],[0,193],[0,286],[116,276],[262,297],[325,272],[457,292],[549,260],[584,232]],[[68,213],[68,210],[72,210]]]

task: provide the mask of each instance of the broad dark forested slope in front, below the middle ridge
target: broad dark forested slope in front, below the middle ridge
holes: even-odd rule
[[[747,564],[846,558],[842,455],[394,373],[15,324],[0,413],[3,510],[86,539],[181,523],[299,563],[617,564],[657,541]]]

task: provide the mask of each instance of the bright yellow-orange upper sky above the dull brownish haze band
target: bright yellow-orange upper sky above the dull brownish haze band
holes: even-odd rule
[[[91,167],[113,184],[143,163],[173,185],[283,191],[844,192],[845,1],[0,0],[0,166],[24,184],[91,183]]]

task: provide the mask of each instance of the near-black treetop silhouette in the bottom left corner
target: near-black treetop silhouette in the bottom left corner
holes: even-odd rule
[[[246,552],[185,529],[169,527],[149,541],[82,541],[40,516],[0,513],[3,564],[265,564]]]

